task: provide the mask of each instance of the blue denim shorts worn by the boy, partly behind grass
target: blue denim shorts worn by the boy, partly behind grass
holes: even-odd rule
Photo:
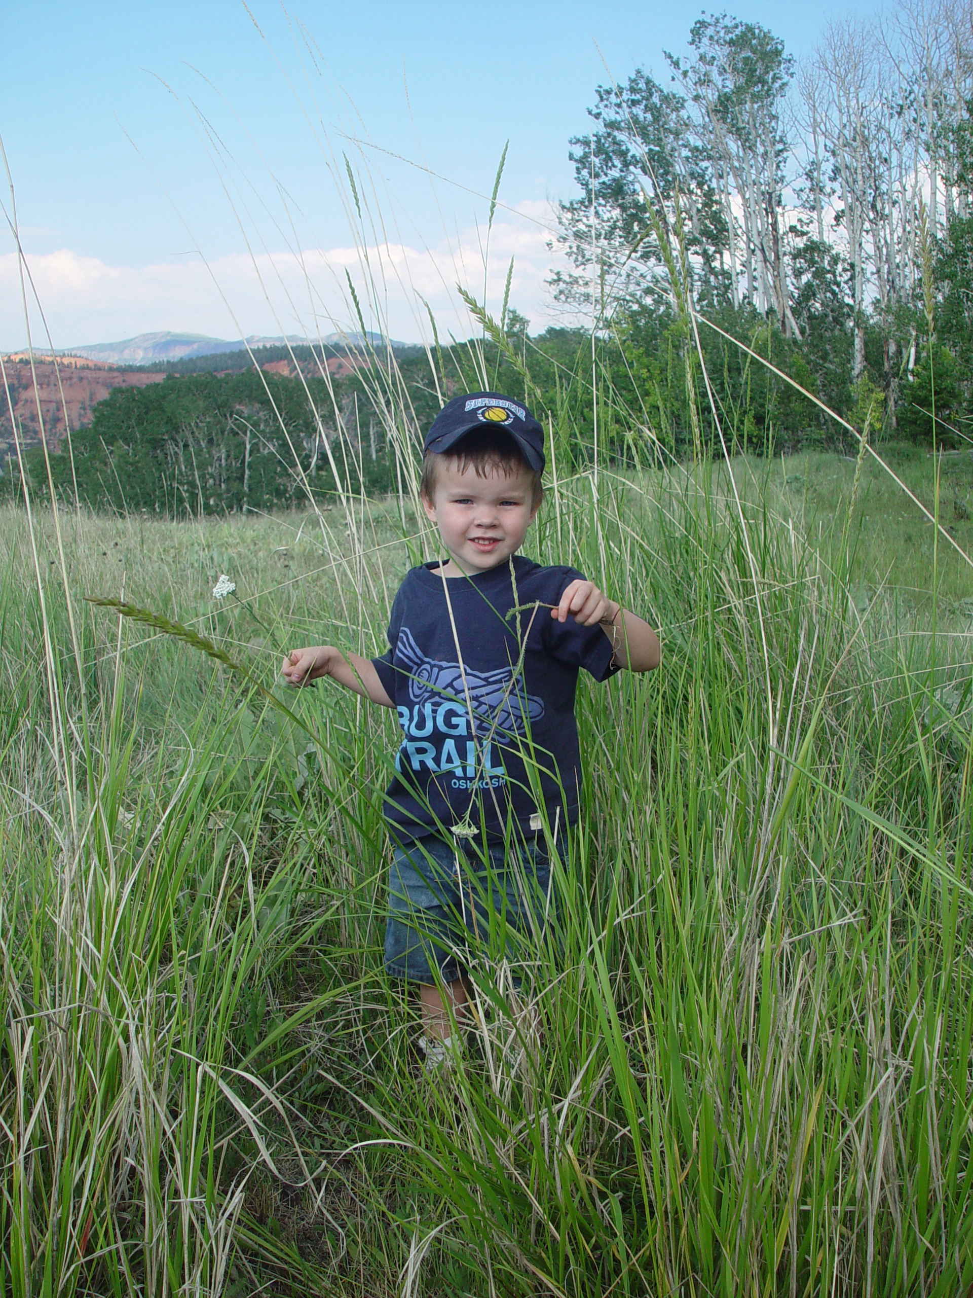
[[[550,861],[535,840],[457,854],[442,839],[393,844],[385,968],[415,983],[453,983],[471,959],[522,962],[555,914]],[[457,867],[458,863],[458,867]]]

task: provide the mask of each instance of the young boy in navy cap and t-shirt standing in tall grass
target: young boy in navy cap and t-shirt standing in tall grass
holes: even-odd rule
[[[579,667],[607,680],[659,665],[641,618],[577,570],[518,554],[544,463],[544,430],[520,402],[454,397],[426,437],[420,484],[449,558],[406,575],[380,658],[324,645],[283,666],[291,685],[331,676],[398,711],[385,967],[420,984],[427,1067],[444,1060],[467,999],[457,916],[480,933],[490,906],[523,933],[544,925],[544,822],[557,833],[577,819]],[[472,877],[461,880],[461,859]]]

